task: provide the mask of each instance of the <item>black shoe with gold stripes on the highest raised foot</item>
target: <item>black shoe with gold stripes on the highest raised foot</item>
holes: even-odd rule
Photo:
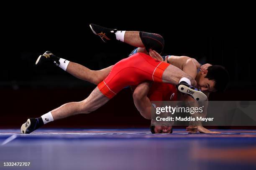
[[[100,25],[90,24],[90,28],[95,35],[99,35],[103,42],[108,40],[115,40],[115,32],[117,29],[105,28]]]

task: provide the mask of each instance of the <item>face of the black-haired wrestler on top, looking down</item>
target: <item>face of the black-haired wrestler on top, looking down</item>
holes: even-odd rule
[[[208,78],[205,78],[207,75],[207,70],[200,72],[200,74],[197,77],[197,85],[198,88],[201,89],[203,92],[215,92],[215,82],[214,80],[209,80]]]

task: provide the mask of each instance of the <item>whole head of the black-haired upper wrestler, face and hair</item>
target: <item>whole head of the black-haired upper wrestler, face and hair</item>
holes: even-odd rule
[[[198,88],[205,92],[223,91],[228,85],[228,71],[221,65],[211,65],[197,73]]]

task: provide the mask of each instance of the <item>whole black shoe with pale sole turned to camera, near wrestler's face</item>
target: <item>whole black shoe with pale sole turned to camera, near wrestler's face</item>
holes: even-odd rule
[[[180,82],[178,84],[178,90],[180,92],[191,95],[197,101],[205,101],[207,100],[207,96],[200,89],[193,87],[186,82]]]

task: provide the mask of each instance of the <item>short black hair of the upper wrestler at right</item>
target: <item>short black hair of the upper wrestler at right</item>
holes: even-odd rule
[[[229,74],[225,67],[221,65],[211,65],[207,70],[208,72],[205,78],[214,80],[214,88],[217,91],[224,91],[229,82]]]

